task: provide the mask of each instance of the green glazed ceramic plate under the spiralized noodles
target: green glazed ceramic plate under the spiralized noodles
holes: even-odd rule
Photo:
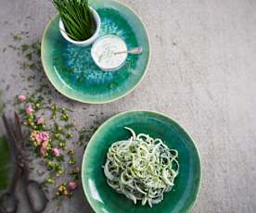
[[[124,195],[112,190],[106,182],[102,165],[105,164],[110,144],[131,136],[123,129],[125,126],[137,133],[159,137],[179,153],[180,171],[173,190],[164,194],[163,201],[152,208],[134,205]],[[186,212],[197,199],[200,176],[200,158],[192,139],[173,119],[157,112],[129,111],[114,116],[96,131],[83,156],[83,191],[97,213]]]

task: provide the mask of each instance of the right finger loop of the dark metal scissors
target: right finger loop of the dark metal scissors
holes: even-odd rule
[[[45,210],[48,199],[41,185],[33,180],[26,182],[26,196],[33,213],[41,213]]]

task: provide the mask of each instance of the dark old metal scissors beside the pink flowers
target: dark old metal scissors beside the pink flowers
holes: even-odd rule
[[[11,158],[14,165],[14,175],[5,194],[0,196],[0,213],[16,213],[19,199],[16,186],[22,180],[24,194],[28,200],[32,213],[41,213],[45,210],[47,198],[39,182],[29,179],[29,169],[25,159],[25,142],[21,132],[21,125],[17,112],[14,113],[14,124],[11,125],[3,115],[7,139],[10,147]]]

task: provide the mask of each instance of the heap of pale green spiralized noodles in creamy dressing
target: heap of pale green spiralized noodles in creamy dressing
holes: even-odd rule
[[[172,190],[179,172],[178,152],[157,138],[135,132],[129,140],[111,144],[104,168],[110,187],[134,201],[150,207],[160,203],[163,193]]]

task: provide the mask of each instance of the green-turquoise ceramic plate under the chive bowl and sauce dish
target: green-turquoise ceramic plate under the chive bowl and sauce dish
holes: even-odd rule
[[[145,27],[131,8],[113,0],[94,0],[91,6],[101,18],[100,35],[116,34],[128,48],[141,45],[143,54],[128,56],[117,71],[102,71],[91,57],[91,46],[75,46],[62,38],[57,16],[45,28],[42,61],[48,79],[59,93],[83,103],[102,104],[129,94],[142,81],[150,46]]]

